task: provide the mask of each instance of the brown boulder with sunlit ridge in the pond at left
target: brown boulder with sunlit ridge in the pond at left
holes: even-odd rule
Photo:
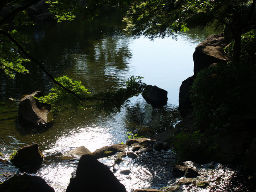
[[[47,114],[51,110],[51,105],[43,104],[34,97],[44,96],[42,92],[35,91],[26,95],[20,100],[18,116],[35,124],[47,122]]]

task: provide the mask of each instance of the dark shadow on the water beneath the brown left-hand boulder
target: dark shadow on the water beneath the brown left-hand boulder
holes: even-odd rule
[[[48,131],[51,127],[53,127],[54,122],[48,122],[42,125],[37,125],[32,122],[26,121],[17,117],[15,121],[15,129],[21,136],[26,136],[29,134],[41,134]]]

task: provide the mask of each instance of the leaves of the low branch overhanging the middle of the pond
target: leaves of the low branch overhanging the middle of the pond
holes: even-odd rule
[[[108,112],[116,112],[120,110],[121,105],[126,102],[130,97],[138,96],[142,92],[145,83],[142,83],[142,77],[131,76],[125,81],[125,87],[120,88],[114,92],[101,92],[92,96],[83,85],[82,82],[73,81],[67,76],[57,78],[56,81],[61,83],[64,87],[75,92],[80,98],[75,97],[73,94],[66,92],[61,87],[55,87],[51,89],[51,92],[38,99],[40,102],[53,104],[54,110],[61,109],[77,109],[94,107],[96,110],[105,110]],[[94,103],[88,103],[86,101],[94,100]]]

